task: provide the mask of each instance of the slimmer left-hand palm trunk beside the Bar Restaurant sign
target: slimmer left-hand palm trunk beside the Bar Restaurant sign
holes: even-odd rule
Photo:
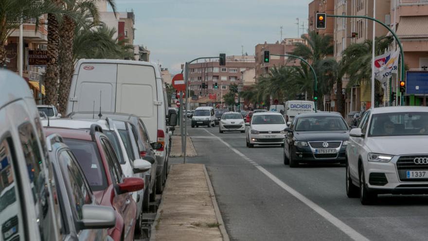
[[[48,62],[46,64],[46,104],[58,103],[59,24],[53,14],[48,14]]]

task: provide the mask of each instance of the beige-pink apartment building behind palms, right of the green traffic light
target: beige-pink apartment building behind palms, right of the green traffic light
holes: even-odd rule
[[[283,56],[272,56],[272,54],[286,55],[291,54],[296,43],[305,43],[303,38],[285,38],[281,43],[263,43],[255,46],[255,76],[266,76],[269,73],[269,69],[280,66],[297,66],[300,65],[300,60],[289,59]],[[264,52],[269,51],[270,61],[269,63],[264,62]]]

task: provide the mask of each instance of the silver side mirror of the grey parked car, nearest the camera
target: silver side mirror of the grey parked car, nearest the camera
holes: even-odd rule
[[[111,228],[116,225],[116,211],[112,207],[85,204],[79,229]]]

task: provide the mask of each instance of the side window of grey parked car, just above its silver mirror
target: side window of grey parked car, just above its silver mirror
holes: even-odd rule
[[[64,170],[64,173],[66,173],[70,181],[71,195],[69,195],[69,199],[71,206],[75,207],[78,219],[81,220],[83,219],[83,205],[92,203],[90,191],[85,184],[85,177],[82,176],[76,161],[69,151],[62,150],[58,155],[58,160],[67,164],[67,170]]]

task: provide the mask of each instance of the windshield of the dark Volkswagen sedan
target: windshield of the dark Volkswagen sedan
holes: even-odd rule
[[[302,117],[297,120],[296,131],[348,130],[339,116]]]

